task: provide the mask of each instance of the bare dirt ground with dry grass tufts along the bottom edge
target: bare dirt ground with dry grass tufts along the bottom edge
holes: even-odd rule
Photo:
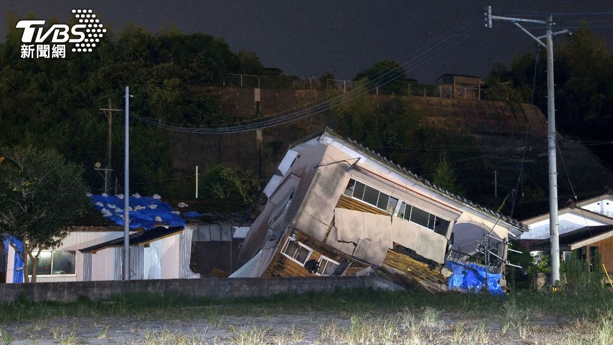
[[[597,324],[570,317],[467,318],[435,309],[286,312],[204,319],[64,318],[0,325],[7,344],[593,344]],[[601,337],[600,337],[601,338]]]

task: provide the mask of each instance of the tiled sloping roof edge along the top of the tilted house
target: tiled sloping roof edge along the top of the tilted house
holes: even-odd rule
[[[509,225],[513,228],[516,228],[517,230],[520,231],[527,231],[528,228],[523,225],[522,223],[518,222],[515,219],[512,219],[511,217],[507,217],[506,215],[501,214],[500,212],[496,212],[493,211],[492,209],[489,209],[487,207],[481,206],[479,204],[473,203],[473,201],[470,201],[466,198],[464,198],[463,196],[454,194],[452,192],[449,192],[449,190],[443,189],[441,187],[439,187],[438,185],[433,184],[432,182],[428,181],[427,179],[424,179],[421,176],[417,176],[416,174],[414,174],[413,172],[411,172],[410,170],[403,168],[400,165],[395,165],[393,161],[388,160],[386,157],[382,157],[379,153],[374,152],[373,150],[368,149],[368,147],[364,147],[362,144],[359,144],[357,141],[352,140],[351,138],[349,139],[345,139],[342,138],[341,136],[339,136],[337,133],[335,133],[334,131],[330,130],[329,128],[326,128],[326,130],[324,131],[323,134],[326,134],[327,136],[330,136],[331,138],[342,142],[345,145],[348,145],[349,147],[353,147],[356,150],[359,150],[362,153],[365,153],[365,155],[368,156],[368,158],[378,161],[378,163],[380,163],[381,165],[386,166],[386,168],[391,169],[392,171],[397,172],[398,174],[400,174],[403,177],[406,177],[406,179],[412,180],[414,182],[416,182],[416,184],[421,185],[424,188],[427,188],[429,190],[432,190],[432,192],[437,193],[438,195],[443,196],[444,198],[449,198],[451,200],[454,200],[460,204],[462,204],[465,207],[468,207],[470,209],[473,209],[476,212],[479,212],[481,214],[485,214],[488,215],[490,217],[494,217],[496,219],[500,219],[500,222],[505,223],[506,225]],[[321,134],[320,134],[321,135]]]

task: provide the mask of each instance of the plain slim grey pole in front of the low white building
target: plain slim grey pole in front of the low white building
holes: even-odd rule
[[[124,152],[124,175],[123,175],[123,280],[130,280],[130,88],[126,87],[126,141]]]

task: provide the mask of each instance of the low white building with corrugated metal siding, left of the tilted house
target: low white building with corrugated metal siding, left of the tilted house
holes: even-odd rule
[[[61,246],[43,250],[37,264],[37,282],[113,281],[122,279],[123,231],[78,228]],[[112,230],[115,230],[113,228]],[[192,228],[156,227],[131,231],[131,279],[197,277],[189,269]],[[7,256],[7,282],[13,282],[15,250]],[[31,272],[31,268],[29,270]]]

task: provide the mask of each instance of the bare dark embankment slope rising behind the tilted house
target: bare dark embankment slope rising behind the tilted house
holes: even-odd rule
[[[256,117],[253,89],[207,88],[205,92],[216,95],[221,108],[239,120]],[[305,109],[317,104],[317,100],[324,96],[324,91],[318,90],[261,90],[260,114],[266,116],[287,109]],[[384,113],[398,99],[408,100],[421,115],[421,123],[416,125],[424,130],[425,135],[435,131],[437,135],[433,141],[436,142],[428,143],[428,147],[401,147],[400,150],[432,152],[434,157],[439,152],[447,152],[459,182],[473,200],[497,208],[504,196],[514,195],[514,188],[519,186],[518,199],[513,207],[514,217],[522,219],[547,211],[547,122],[537,107],[471,99],[364,97],[371,98],[377,113]],[[225,163],[250,169],[256,177],[265,180],[289,144],[321,131],[325,126],[335,128],[335,125],[333,115],[324,112],[267,128],[263,131],[261,155],[258,155],[255,131],[223,135],[171,133],[170,152],[177,173],[193,172],[196,165],[206,169]],[[462,138],[465,144],[457,144],[457,138]],[[524,142],[527,143],[525,152]],[[560,205],[573,196],[568,180],[580,199],[601,193],[605,185],[613,185],[613,173],[584,145],[569,141],[560,134],[558,142],[562,152],[560,157],[558,151]],[[523,166],[521,180],[518,179],[520,166]],[[428,175],[432,175],[433,167],[428,161],[406,168],[431,178]],[[494,198],[495,172],[498,198]],[[508,198],[503,209],[509,213],[511,207],[512,198]]]

